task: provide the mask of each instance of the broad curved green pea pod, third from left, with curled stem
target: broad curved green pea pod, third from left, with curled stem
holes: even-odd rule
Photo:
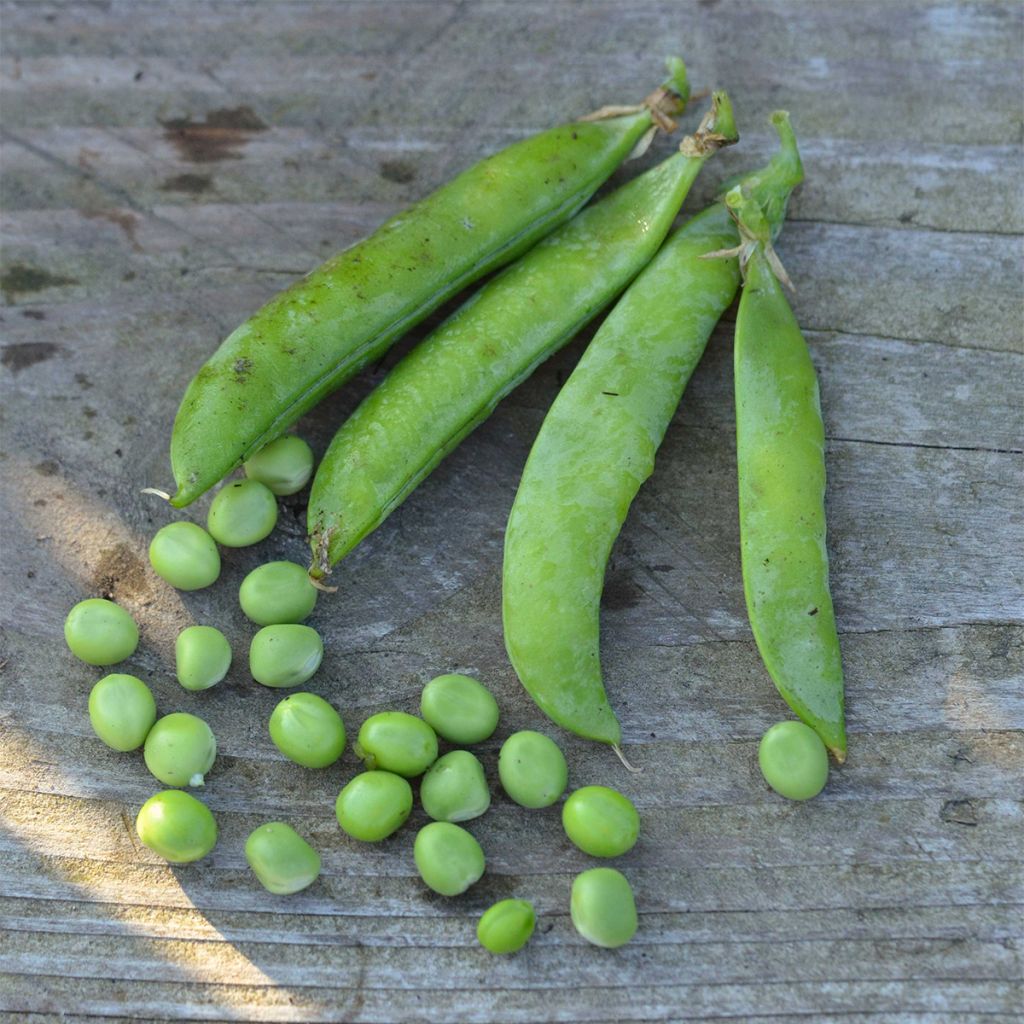
[[[788,115],[781,148],[743,180],[781,228],[803,177]],[[553,721],[617,743],[601,681],[599,615],[605,565],[683,389],[739,287],[722,203],[686,222],[637,278],[584,352],[537,435],[505,531],[505,644],[519,679]]]

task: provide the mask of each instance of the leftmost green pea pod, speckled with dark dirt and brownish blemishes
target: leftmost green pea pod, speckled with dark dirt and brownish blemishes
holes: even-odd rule
[[[193,379],[171,435],[181,508],[467,285],[568,220],[689,95],[682,60],[642,104],[516,142],[272,298]]]

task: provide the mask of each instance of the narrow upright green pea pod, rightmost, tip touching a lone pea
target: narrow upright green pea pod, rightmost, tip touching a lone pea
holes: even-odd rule
[[[779,284],[788,282],[764,213],[739,187],[727,202],[742,239],[734,364],[746,612],[782,698],[843,761],[843,666],[828,589],[818,381]]]

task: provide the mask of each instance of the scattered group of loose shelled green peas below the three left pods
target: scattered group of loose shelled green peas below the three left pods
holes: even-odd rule
[[[245,465],[245,479],[224,484],[214,498],[207,529],[178,521],[157,531],[150,545],[156,572],[179,590],[208,587],[220,575],[217,543],[231,548],[266,538],[278,518],[276,496],[300,490],[313,469],[309,445],[294,435],[282,437]],[[216,542],[216,543],[215,543]],[[264,686],[287,688],[309,680],[319,668],[324,644],[302,625],[316,603],[316,589],[305,569],[274,561],[253,569],[242,583],[242,610],[260,627],[249,648],[252,677]],[[138,644],[131,615],[112,601],[93,598],[76,604],[65,623],[72,652],[94,666],[130,657]],[[187,690],[219,683],[231,664],[226,637],[212,626],[190,626],[175,642],[178,682]],[[443,896],[465,892],[483,874],[479,843],[459,822],[479,817],[490,806],[483,767],[467,750],[438,757],[437,737],[459,748],[487,739],[498,726],[499,709],[482,683],[468,676],[442,675],[423,688],[422,718],[385,711],[359,728],[354,752],[366,770],[338,794],[335,813],[355,840],[379,843],[401,827],[413,809],[409,780],[422,776],[420,803],[433,820],[416,836],[413,857],[423,882]],[[210,809],[184,792],[202,786],[217,754],[213,731],[196,715],[177,712],[158,720],[150,688],[135,676],[100,679],[89,694],[89,719],[96,735],[116,751],[142,748],[148,770],[171,788],[151,797],[135,827],[151,850],[174,864],[205,857],[217,842]],[[323,697],[297,692],[286,696],[268,723],[270,738],[285,757],[310,769],[334,764],[345,749],[345,726]],[[827,769],[826,769],[827,770]],[[498,759],[502,787],[525,808],[549,807],[568,782],[565,758],[540,732],[513,733]],[[640,816],[615,790],[589,785],[562,805],[568,838],[594,857],[620,856],[634,846]],[[297,893],[319,874],[319,854],[284,821],[269,821],[246,841],[246,859],[271,893]],[[581,935],[613,948],[633,937],[637,912],[627,879],[610,867],[595,867],[572,883],[570,915]],[[480,944],[494,953],[511,953],[529,939],[534,906],[522,899],[495,903],[479,920]]]

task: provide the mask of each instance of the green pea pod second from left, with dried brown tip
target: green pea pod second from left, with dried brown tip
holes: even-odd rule
[[[545,239],[391,371],[335,434],[313,479],[313,578],[626,287],[662,244],[705,161],[735,138],[728,96],[715,93],[679,153]]]

